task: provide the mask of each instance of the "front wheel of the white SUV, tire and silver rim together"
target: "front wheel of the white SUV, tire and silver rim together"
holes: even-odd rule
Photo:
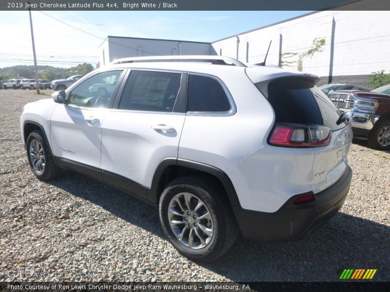
[[[32,131],[27,138],[27,158],[34,175],[41,181],[55,178],[59,167],[55,164],[40,131]]]

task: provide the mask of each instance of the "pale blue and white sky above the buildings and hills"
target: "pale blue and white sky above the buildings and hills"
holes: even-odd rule
[[[32,19],[38,64],[69,68],[95,66],[107,36],[213,42],[309,12],[33,11]],[[33,65],[28,12],[0,11],[0,19],[0,68]]]

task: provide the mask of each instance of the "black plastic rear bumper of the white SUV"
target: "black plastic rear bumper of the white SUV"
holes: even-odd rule
[[[265,242],[292,241],[305,237],[338,212],[347,198],[351,178],[352,170],[348,166],[336,183],[314,195],[314,201],[293,205],[292,202],[302,196],[296,195],[274,213],[233,206],[238,226],[244,237]]]

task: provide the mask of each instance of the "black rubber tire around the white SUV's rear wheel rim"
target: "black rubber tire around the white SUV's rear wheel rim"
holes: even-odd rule
[[[169,219],[170,215],[168,212],[171,200],[173,201],[176,195],[180,196],[183,193],[195,195],[195,197],[200,199],[207,207],[206,211],[209,212],[213,220],[212,237],[209,237],[210,241],[204,247],[195,249],[186,246],[185,243],[176,237],[173,228],[171,228]],[[199,201],[195,201],[195,204],[198,202]],[[186,216],[186,212],[184,210],[183,212],[184,215],[182,216]],[[159,218],[165,235],[177,251],[183,256],[197,262],[211,262],[222,256],[232,247],[238,235],[237,223],[227,200],[225,191],[213,180],[202,175],[190,175],[175,179],[169,183],[159,200]],[[190,227],[196,228],[195,223],[193,223],[193,226],[191,226],[191,224],[187,224],[190,222],[190,218],[192,218],[192,215],[189,216],[187,219],[188,221],[186,220],[186,223],[184,223],[183,230],[185,228],[189,228],[191,231]],[[186,218],[184,217],[183,222],[185,219]],[[192,220],[193,219],[191,219],[191,222],[193,222]],[[200,221],[198,225],[200,225]],[[181,233],[184,234],[183,231],[181,231]],[[195,233],[193,234],[195,235]],[[195,237],[193,236],[193,238]],[[197,241],[200,243],[199,237],[196,238],[198,238]],[[187,242],[189,241],[190,240]],[[195,240],[193,240],[193,242],[195,242]]]

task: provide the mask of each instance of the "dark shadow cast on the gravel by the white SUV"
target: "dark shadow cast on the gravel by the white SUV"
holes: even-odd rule
[[[50,182],[113,215],[164,238],[157,209],[72,172]],[[389,281],[390,227],[337,213],[309,237],[287,243],[238,238],[232,249],[203,267],[233,281],[337,281],[344,269],[378,269],[375,280]]]

